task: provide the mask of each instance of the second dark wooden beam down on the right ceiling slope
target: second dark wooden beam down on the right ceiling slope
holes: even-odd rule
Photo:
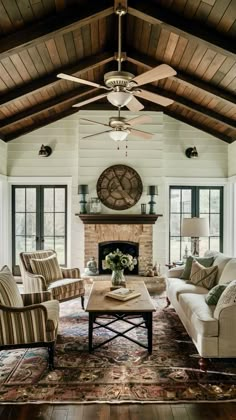
[[[163,64],[154,58],[146,56],[145,54],[139,54],[135,50],[127,51],[127,61],[135,64],[136,66],[146,67],[147,70]],[[235,95],[230,94],[229,92],[226,92],[226,90],[223,90],[219,87],[213,86],[209,82],[204,82],[203,80],[196,79],[193,76],[182,73],[181,71],[178,71],[177,75],[170,77],[170,79],[177,80],[179,83],[184,82],[186,85],[202,89],[203,91],[208,92],[213,96],[217,96],[220,99],[224,99],[225,101],[236,104]]]

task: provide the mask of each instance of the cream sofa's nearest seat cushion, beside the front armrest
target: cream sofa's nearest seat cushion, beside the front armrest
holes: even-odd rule
[[[179,301],[186,318],[198,334],[204,337],[218,336],[218,320],[213,316],[215,307],[206,304],[205,295],[184,293]]]

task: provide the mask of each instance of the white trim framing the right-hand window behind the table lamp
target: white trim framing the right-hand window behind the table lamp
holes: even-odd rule
[[[236,182],[236,177],[235,177]],[[232,187],[230,186],[228,178],[165,178],[165,202],[166,205],[166,214],[168,215],[168,229],[166,230],[166,240],[169,241],[169,188],[171,185],[181,185],[181,186],[193,186],[193,187],[224,187],[224,240],[223,240],[223,249],[224,253],[228,255],[234,255],[236,251],[236,239],[235,231],[236,227],[233,224],[233,197],[232,197]],[[235,187],[236,193],[236,187]],[[236,197],[234,203],[236,205]],[[234,226],[234,231],[232,230]]]

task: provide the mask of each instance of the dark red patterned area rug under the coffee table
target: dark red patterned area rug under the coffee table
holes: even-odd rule
[[[236,359],[211,360],[207,374],[196,349],[164,297],[154,297],[153,354],[119,337],[88,353],[88,316],[80,300],[61,304],[55,370],[47,350],[0,352],[1,402],[180,402],[236,398]],[[104,320],[105,321],[105,320]],[[124,328],[119,321],[118,328]],[[110,332],[100,330],[99,343]],[[132,336],[146,344],[146,330]]]

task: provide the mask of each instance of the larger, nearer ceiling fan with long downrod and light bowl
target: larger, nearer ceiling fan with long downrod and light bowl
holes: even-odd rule
[[[73,105],[74,107],[81,107],[104,97],[107,97],[108,101],[112,105],[116,107],[126,106],[130,111],[133,112],[140,111],[144,108],[142,103],[136,97],[146,99],[162,106],[168,106],[173,103],[171,99],[140,88],[140,86],[147,83],[156,82],[166,77],[174,76],[176,71],[169,65],[161,64],[151,70],[146,71],[145,73],[140,74],[139,76],[134,76],[132,73],[121,71],[121,17],[126,13],[127,10],[121,6],[116,9],[116,14],[118,15],[118,70],[105,73],[105,86],[64,73],[57,75],[57,77],[61,79],[94,86],[96,88],[108,91],[101,95],[94,96],[91,99],[87,99],[78,104],[75,104]]]

